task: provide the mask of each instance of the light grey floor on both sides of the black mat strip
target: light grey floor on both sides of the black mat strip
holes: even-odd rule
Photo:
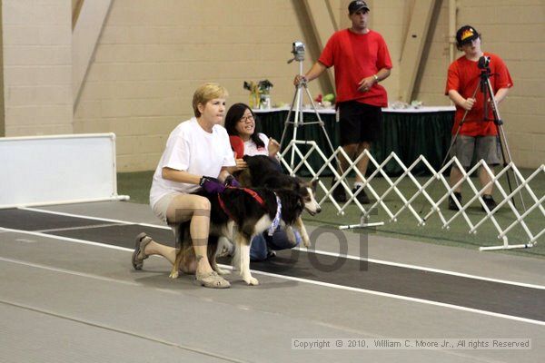
[[[147,206],[128,202],[39,210],[158,224]],[[316,250],[545,286],[543,260],[309,230]],[[231,289],[203,289],[188,276],[168,279],[170,266],[158,257],[134,271],[131,253],[0,229],[0,361],[536,362],[545,355],[543,322],[259,272],[256,287],[230,276]],[[295,350],[293,338],[530,338],[532,348]]]

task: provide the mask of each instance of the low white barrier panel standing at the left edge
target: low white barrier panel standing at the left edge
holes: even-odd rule
[[[127,200],[115,169],[114,133],[0,138],[0,209]]]

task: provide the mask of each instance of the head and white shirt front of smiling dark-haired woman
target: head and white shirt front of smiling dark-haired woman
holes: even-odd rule
[[[276,153],[280,151],[280,144],[276,140],[257,131],[255,114],[247,104],[234,103],[229,108],[225,115],[225,129],[230,136],[238,136],[243,141],[243,154],[239,155],[240,151],[235,150],[237,158],[242,158],[243,155],[276,157]]]

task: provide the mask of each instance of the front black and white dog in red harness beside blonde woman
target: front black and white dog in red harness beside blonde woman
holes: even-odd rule
[[[225,237],[233,242],[233,270],[239,270],[248,285],[259,283],[250,272],[250,243],[254,236],[268,229],[273,231],[280,225],[287,232],[288,238],[294,241],[295,236],[290,228],[294,227],[300,231],[305,247],[310,246],[302,225],[301,213],[306,210],[314,215],[320,211],[320,206],[313,198],[307,201],[300,189],[273,191],[266,188],[227,188],[223,193],[208,194],[200,191],[198,194],[211,203],[210,235]],[[180,243],[180,250],[176,254],[170,275],[173,279],[178,277],[183,261],[187,260],[187,254],[194,253],[189,236],[189,222],[180,226],[176,239]],[[225,274],[227,271],[219,269],[216,263],[216,257],[221,250],[218,239],[209,239],[208,259],[211,266],[219,274]]]

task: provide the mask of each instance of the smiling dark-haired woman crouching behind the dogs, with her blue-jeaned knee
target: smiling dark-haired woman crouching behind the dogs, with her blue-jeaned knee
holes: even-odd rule
[[[268,155],[276,159],[276,154],[280,151],[280,144],[276,140],[257,132],[255,115],[247,104],[234,103],[229,108],[225,115],[225,129],[230,136],[236,158],[242,158],[243,155]],[[278,167],[282,169],[280,164]],[[297,240],[293,243],[288,240],[285,231],[277,229],[272,236],[265,231],[253,238],[250,259],[266,260],[276,254],[274,250],[291,249],[297,246],[301,239],[297,233],[295,237]]]

